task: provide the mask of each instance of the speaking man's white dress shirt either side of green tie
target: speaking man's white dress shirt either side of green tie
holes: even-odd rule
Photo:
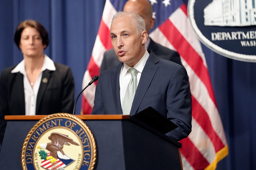
[[[137,70],[137,83],[138,84],[139,84],[139,81],[141,78],[141,73],[144,69],[144,66],[146,64],[148,57],[149,57],[149,53],[147,50],[145,50],[145,54],[143,55],[143,57],[133,67]],[[129,68],[131,68],[131,67],[129,67],[127,64],[123,63],[123,66],[121,67],[120,74],[119,74],[120,101],[121,101],[122,108],[123,108],[124,95],[125,95],[127,86],[131,80],[131,73],[128,71]]]

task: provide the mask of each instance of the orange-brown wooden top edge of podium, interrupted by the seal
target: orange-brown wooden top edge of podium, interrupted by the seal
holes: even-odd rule
[[[10,115],[5,116],[5,120],[40,120],[48,115],[34,115],[34,116],[25,116],[25,115]],[[82,120],[121,120],[121,119],[129,119],[129,115],[122,115],[122,114],[88,114],[88,115],[81,115],[75,114],[78,118]]]

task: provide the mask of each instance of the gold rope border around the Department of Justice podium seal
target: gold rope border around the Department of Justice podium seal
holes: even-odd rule
[[[27,170],[26,169],[26,162],[25,162],[25,152],[26,152],[26,147],[28,144],[28,141],[30,139],[30,136],[32,135],[32,132],[38,127],[39,124],[41,124],[42,122],[46,121],[49,118],[53,118],[53,117],[59,117],[59,116],[63,116],[63,117],[68,117],[68,118],[72,118],[74,120],[76,120],[77,122],[79,122],[80,124],[82,124],[82,126],[85,128],[85,130],[88,132],[89,137],[92,140],[92,155],[91,155],[91,167],[89,167],[90,170],[94,169],[94,166],[96,164],[96,142],[94,139],[94,136],[91,132],[91,130],[88,128],[88,126],[84,123],[84,121],[82,121],[80,118],[78,118],[77,116],[74,116],[73,114],[69,114],[69,113],[54,113],[54,114],[50,114],[44,118],[42,118],[41,120],[39,120],[34,126],[33,128],[30,129],[30,131],[28,132],[24,143],[22,145],[22,152],[21,152],[21,165],[22,165],[22,169],[23,170]]]

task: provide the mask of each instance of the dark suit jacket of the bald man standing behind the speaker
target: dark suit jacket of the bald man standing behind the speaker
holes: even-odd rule
[[[170,50],[169,48],[166,48],[156,42],[154,42],[152,39],[150,39],[150,43],[148,45],[147,50],[152,50],[154,54],[156,54],[157,57],[167,59],[169,61],[173,61],[175,63],[181,64],[179,53]],[[102,73],[104,70],[110,68],[113,65],[116,65],[119,63],[119,59],[117,58],[115,51],[112,49],[106,51],[103,56],[102,64],[100,67],[100,73]]]

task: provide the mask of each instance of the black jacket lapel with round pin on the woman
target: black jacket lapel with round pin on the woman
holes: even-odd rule
[[[43,71],[42,80],[47,80],[47,82],[42,81],[42,80],[40,82],[40,87],[39,87],[37,99],[36,99],[36,114],[38,114],[38,109],[39,109],[41,101],[44,97],[44,92],[46,90],[46,87],[49,84],[49,80],[51,78],[51,73],[52,73],[52,71],[47,70],[47,69],[45,71]]]

